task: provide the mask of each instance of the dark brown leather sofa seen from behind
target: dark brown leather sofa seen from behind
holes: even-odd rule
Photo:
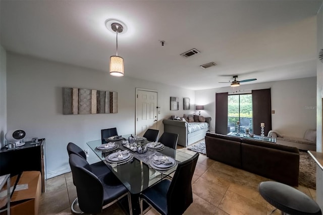
[[[206,155],[221,163],[298,186],[299,150],[248,138],[206,133]]]

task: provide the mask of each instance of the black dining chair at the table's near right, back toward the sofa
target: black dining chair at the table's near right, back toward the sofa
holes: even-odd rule
[[[193,202],[192,177],[199,153],[179,163],[173,180],[165,179],[139,195],[140,214],[143,214],[143,200],[160,214],[183,214]]]

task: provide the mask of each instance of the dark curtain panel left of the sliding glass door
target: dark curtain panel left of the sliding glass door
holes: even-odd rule
[[[228,131],[228,93],[216,93],[216,133]]]

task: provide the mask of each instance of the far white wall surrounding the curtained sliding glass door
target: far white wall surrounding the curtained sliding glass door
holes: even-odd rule
[[[215,131],[216,93],[247,93],[251,89],[271,88],[272,129],[288,136],[303,137],[307,129],[316,128],[316,77],[285,81],[244,84],[233,89],[222,87],[195,91],[196,103],[206,104],[212,117],[211,131]],[[238,91],[238,92],[236,92]],[[260,125],[259,125],[260,126]]]

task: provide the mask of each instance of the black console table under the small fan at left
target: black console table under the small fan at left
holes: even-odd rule
[[[15,176],[23,171],[39,171],[41,173],[41,191],[45,192],[46,160],[45,138],[37,143],[25,142],[25,145],[9,149],[0,149],[0,176],[10,174]]]

